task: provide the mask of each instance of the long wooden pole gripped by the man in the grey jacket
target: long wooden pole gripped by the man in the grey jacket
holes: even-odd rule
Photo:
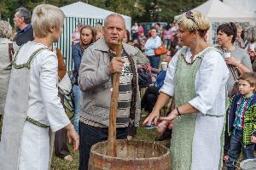
[[[122,42],[119,41],[116,47],[116,57],[121,57]],[[111,94],[110,113],[109,113],[109,127],[108,127],[108,156],[117,156],[116,144],[116,115],[118,109],[119,99],[119,73],[113,74],[113,91]]]

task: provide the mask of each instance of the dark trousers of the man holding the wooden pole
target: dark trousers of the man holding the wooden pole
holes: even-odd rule
[[[117,128],[117,139],[126,139],[128,127]],[[92,127],[79,122],[79,170],[87,170],[90,158],[90,148],[93,144],[108,139],[108,127]]]

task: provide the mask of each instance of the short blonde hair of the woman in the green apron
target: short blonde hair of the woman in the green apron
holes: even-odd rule
[[[192,19],[190,19],[187,15],[191,13]],[[198,11],[188,11],[185,14],[182,14],[177,19],[178,26],[184,26],[188,31],[203,31],[205,34],[210,28],[210,22],[207,18]]]

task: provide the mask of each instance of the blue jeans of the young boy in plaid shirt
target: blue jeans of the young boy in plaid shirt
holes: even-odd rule
[[[236,133],[232,133],[230,139],[230,150],[229,150],[229,159],[226,162],[228,170],[236,170],[236,162],[239,158],[242,150],[243,160],[253,159],[253,150],[255,144],[244,145],[242,143],[242,131],[236,130]]]

